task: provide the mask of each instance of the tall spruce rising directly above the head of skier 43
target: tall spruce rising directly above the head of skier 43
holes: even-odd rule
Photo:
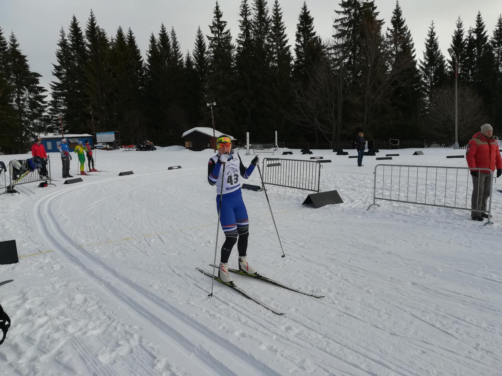
[[[231,90],[233,79],[233,45],[230,30],[226,27],[227,22],[223,20],[223,13],[218,2],[213,10],[213,20],[209,25],[211,35],[207,36],[209,41],[209,75],[208,75],[208,102],[216,102],[214,111],[215,128],[222,132],[236,130],[234,125],[234,97]],[[211,113],[206,112],[206,124],[211,124]],[[237,137],[242,136],[234,132]]]

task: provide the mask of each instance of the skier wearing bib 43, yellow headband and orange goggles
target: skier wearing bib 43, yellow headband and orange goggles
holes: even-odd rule
[[[220,214],[220,224],[225,234],[225,242],[221,247],[218,277],[223,282],[232,282],[228,273],[228,258],[235,243],[239,252],[239,270],[249,274],[256,273],[256,270],[246,261],[249,222],[246,207],[242,201],[240,179],[241,177],[247,179],[253,173],[255,166],[260,163],[260,158],[258,155],[255,156],[246,168],[239,154],[232,152],[230,137],[222,135],[216,140],[216,144],[218,153],[209,159],[207,180],[209,184],[216,185],[216,210]],[[225,176],[223,176],[223,165]],[[222,181],[223,192],[221,191]],[[220,200],[221,213],[219,212]]]

